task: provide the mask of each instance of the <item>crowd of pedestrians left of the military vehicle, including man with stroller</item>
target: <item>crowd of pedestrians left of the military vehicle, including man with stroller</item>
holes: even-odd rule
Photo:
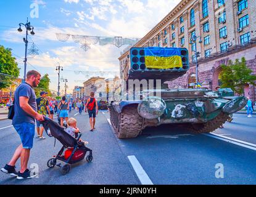
[[[50,119],[53,119],[54,114],[56,114],[59,116],[60,126],[64,126],[65,121],[67,126],[68,123],[70,123],[69,128],[73,127],[76,131],[78,130],[75,124],[76,121],[68,121],[68,113],[70,113],[72,109],[75,110],[75,108],[77,108],[80,114],[83,110],[85,110],[85,112],[88,110],[91,131],[95,129],[95,118],[98,113],[98,107],[93,92],[87,102],[83,100],[73,102],[72,100],[67,100],[66,97],[62,97],[62,100],[57,101],[54,98],[47,97],[47,92],[44,91],[40,92],[39,98],[36,98],[33,88],[38,86],[40,80],[41,74],[38,73],[38,71],[28,71],[26,81],[17,87],[14,94],[14,113],[13,116],[9,118],[12,119],[12,125],[20,135],[22,143],[16,148],[9,163],[2,167],[1,171],[17,177],[17,179],[30,179],[37,176],[37,174],[31,174],[30,170],[27,168],[28,159],[30,158],[30,150],[33,148],[35,125],[38,139],[45,139],[43,136],[44,127],[41,122],[44,121],[44,117],[47,115]],[[20,171],[17,172],[15,164],[19,158],[21,167]]]

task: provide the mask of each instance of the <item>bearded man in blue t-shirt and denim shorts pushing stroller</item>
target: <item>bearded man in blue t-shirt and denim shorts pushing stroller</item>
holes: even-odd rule
[[[12,124],[20,135],[22,144],[15,150],[12,159],[1,171],[15,176],[17,179],[30,179],[37,175],[31,175],[27,165],[30,158],[30,149],[33,147],[35,119],[44,121],[43,115],[37,113],[36,95],[33,90],[33,87],[38,86],[40,79],[41,74],[38,71],[28,71],[26,81],[17,87],[14,94],[14,118],[12,119]],[[17,173],[15,164],[19,158],[21,167]]]

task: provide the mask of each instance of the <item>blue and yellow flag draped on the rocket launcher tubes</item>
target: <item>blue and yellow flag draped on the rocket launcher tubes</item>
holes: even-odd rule
[[[177,48],[148,47],[144,49],[146,68],[182,68],[181,50]]]

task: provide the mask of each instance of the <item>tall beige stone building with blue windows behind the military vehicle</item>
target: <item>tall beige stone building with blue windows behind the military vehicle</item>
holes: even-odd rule
[[[245,57],[256,74],[256,0],[182,0],[134,47],[186,47],[190,69],[168,82],[169,87],[192,87],[196,81],[196,55],[199,82],[203,87],[220,86],[221,65]],[[191,43],[196,35],[197,41]],[[121,54],[120,72],[129,65],[129,50]],[[254,86],[245,85],[246,96],[256,100]]]

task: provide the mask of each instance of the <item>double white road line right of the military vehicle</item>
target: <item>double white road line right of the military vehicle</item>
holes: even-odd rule
[[[213,137],[218,140],[223,140],[225,142],[233,143],[240,147],[249,148],[251,150],[256,150],[256,144],[254,144],[254,143],[244,142],[242,140],[233,139],[231,137],[225,137],[223,135],[218,135],[218,134],[203,134],[203,135],[207,135],[209,137]]]

